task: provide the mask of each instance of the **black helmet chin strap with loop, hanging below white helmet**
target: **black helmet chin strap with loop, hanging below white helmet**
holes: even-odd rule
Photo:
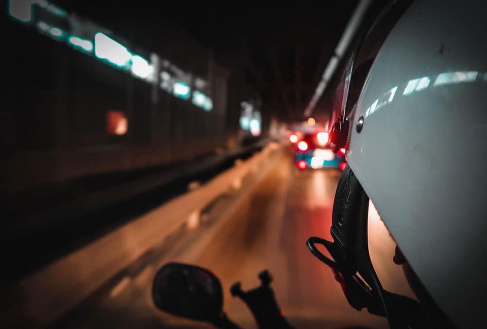
[[[382,288],[369,254],[368,210],[369,197],[347,166],[338,182],[333,204],[334,241],[310,237],[306,245],[331,268],[347,301],[356,310],[367,308],[372,314],[387,317],[391,328],[431,328],[418,302]],[[332,258],[321,253],[317,244],[323,245]]]

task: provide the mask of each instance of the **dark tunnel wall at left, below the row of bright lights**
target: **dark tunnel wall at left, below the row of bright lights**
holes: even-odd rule
[[[209,81],[213,109],[8,22],[8,63],[1,116],[1,190],[20,191],[89,174],[176,163],[212,153],[237,135],[228,126],[228,72],[203,47],[177,38],[171,57],[196,59]],[[173,39],[176,40],[176,39]],[[170,44],[171,40],[165,40]],[[203,64],[202,64],[203,63]],[[233,106],[233,105],[232,105]],[[128,120],[125,135],[106,131],[107,111]],[[238,123],[237,123],[238,124]]]

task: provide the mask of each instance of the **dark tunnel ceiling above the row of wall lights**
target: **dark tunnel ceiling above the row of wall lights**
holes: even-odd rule
[[[300,119],[356,3],[72,0],[62,5],[129,38],[137,30],[142,46],[153,46],[171,30],[186,30],[259,92],[263,110]]]

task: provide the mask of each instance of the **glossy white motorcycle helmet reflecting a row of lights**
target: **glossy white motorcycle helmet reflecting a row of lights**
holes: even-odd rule
[[[419,0],[397,20],[354,110],[341,124],[350,170],[344,172],[335,199],[334,245],[318,238],[308,243],[346,276],[339,263],[347,255],[335,246],[340,242],[343,247],[347,236],[350,240],[358,234],[347,232],[350,226],[343,221],[351,220],[347,215],[363,215],[363,209],[347,212],[351,206],[364,207],[370,197],[425,290],[461,328],[486,322],[485,7]],[[365,201],[354,189],[363,189]],[[336,263],[316,253],[314,243],[325,244]],[[360,264],[350,256],[352,249],[348,257],[358,263],[359,272],[368,272],[368,261]],[[381,290],[375,273],[360,274],[372,290]],[[372,294],[387,304],[387,294]]]

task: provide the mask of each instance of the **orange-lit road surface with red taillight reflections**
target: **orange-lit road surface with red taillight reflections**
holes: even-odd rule
[[[52,328],[212,328],[156,310],[150,298],[155,271],[169,261],[205,267],[220,277],[226,314],[242,328],[256,328],[252,315],[230,286],[241,281],[244,290],[259,285],[257,274],[267,269],[272,287],[291,324],[297,328],[387,328],[383,318],[352,309],[332,272],[307,250],[305,241],[316,235],[331,239],[331,213],[340,172],[299,172],[291,156],[282,160],[253,188],[236,215],[220,217],[235,199],[223,198],[205,215],[206,224],[166,239],[136,263],[58,319]],[[235,198],[235,196],[234,196]],[[386,289],[411,292],[392,263],[392,239],[370,210],[372,260]],[[203,242],[201,242],[203,241]],[[205,242],[206,241],[206,242]],[[100,251],[109,252],[109,251]],[[392,271],[392,272],[391,272]]]

